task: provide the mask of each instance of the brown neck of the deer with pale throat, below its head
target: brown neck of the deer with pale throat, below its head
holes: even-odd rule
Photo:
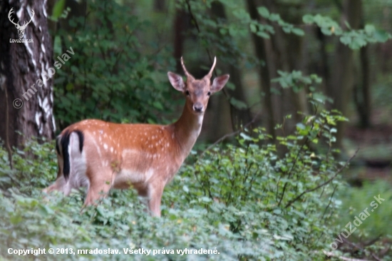
[[[182,115],[172,124],[174,139],[177,141],[184,159],[192,150],[202,129],[204,113],[195,114],[185,103]]]

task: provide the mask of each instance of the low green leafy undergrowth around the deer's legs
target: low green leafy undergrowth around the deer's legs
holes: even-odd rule
[[[0,255],[8,260],[324,260],[321,250],[336,232],[329,224],[338,217],[335,191],[344,168],[328,148],[336,121],[343,119],[322,111],[304,116],[296,132],[279,137],[277,145],[258,128],[241,133],[237,145],[190,155],[165,188],[162,218],[147,215],[133,190],[113,190],[97,207],[82,211],[83,192],[44,198],[42,188],[56,178],[53,142],[31,140],[14,153],[13,170],[1,148]],[[323,150],[310,149],[321,143]],[[7,254],[9,248],[39,247],[68,249],[68,255]],[[120,254],[77,252],[109,248]],[[131,249],[152,251],[125,254]],[[185,249],[199,252],[177,253]]]

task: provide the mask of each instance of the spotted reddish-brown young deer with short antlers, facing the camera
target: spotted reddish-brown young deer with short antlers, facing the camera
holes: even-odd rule
[[[143,123],[110,123],[86,119],[65,128],[56,138],[58,173],[55,183],[43,190],[69,195],[72,189],[87,188],[83,208],[96,205],[111,188],[134,188],[145,199],[150,215],[160,217],[165,185],[174,178],[202,128],[210,96],[222,90],[229,75],[211,83],[212,71],[196,79],[181,66],[186,81],[176,73],[167,77],[185,96],[185,106],[175,123],[163,126]]]

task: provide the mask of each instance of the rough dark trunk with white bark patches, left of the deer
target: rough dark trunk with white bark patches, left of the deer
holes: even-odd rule
[[[52,139],[56,128],[52,93],[56,69],[44,2],[0,2],[0,138],[9,147],[23,145],[32,136]],[[16,29],[9,15],[19,26],[26,22],[25,31]]]

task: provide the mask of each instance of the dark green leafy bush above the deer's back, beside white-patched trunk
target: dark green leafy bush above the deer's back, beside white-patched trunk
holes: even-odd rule
[[[55,56],[70,46],[75,53],[56,73],[54,111],[61,128],[83,118],[155,123],[158,113],[170,112],[166,70],[172,58],[167,48],[158,50],[139,36],[152,24],[118,1],[92,1],[86,17],[67,21],[55,38]]]

